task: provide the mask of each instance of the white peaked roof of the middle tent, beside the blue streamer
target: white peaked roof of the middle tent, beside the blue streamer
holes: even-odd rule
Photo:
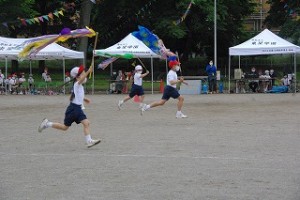
[[[131,33],[115,45],[106,49],[95,50],[96,56],[112,57],[132,55],[134,58],[160,58],[160,55],[154,53],[142,41],[134,37]]]

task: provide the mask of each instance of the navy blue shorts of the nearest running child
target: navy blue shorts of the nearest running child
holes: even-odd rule
[[[65,112],[64,124],[66,126],[71,126],[73,122],[80,124],[80,122],[84,119],[87,118],[81,109],[81,105],[70,103],[70,105],[68,106]]]

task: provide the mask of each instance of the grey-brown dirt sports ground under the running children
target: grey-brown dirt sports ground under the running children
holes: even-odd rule
[[[93,95],[81,125],[62,122],[68,96],[0,96],[0,199],[299,200],[300,95],[184,95],[140,115],[124,95]],[[146,95],[145,102],[161,94]]]

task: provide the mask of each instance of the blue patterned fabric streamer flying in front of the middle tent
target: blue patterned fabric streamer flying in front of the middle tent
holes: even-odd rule
[[[149,47],[154,53],[168,58],[169,56],[176,56],[173,52],[167,49],[161,39],[147,28],[138,26],[139,31],[132,32],[132,35],[141,40],[147,47]]]

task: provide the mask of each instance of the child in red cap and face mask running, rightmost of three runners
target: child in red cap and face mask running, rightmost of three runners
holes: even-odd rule
[[[170,67],[170,71],[167,75],[167,85],[164,88],[164,93],[163,96],[161,98],[160,101],[155,101],[149,105],[144,105],[141,108],[141,114],[143,115],[143,112],[146,110],[149,110],[150,108],[156,107],[156,106],[162,106],[164,105],[171,97],[173,99],[178,99],[178,103],[177,103],[177,113],[176,113],[176,118],[186,118],[187,116],[184,115],[181,112],[181,108],[183,106],[183,101],[184,98],[183,96],[181,96],[177,89],[176,89],[176,84],[179,82],[184,82],[183,77],[181,77],[180,79],[177,78],[177,73],[180,69],[180,63],[176,60],[174,61],[170,61],[169,62],[169,67]]]

